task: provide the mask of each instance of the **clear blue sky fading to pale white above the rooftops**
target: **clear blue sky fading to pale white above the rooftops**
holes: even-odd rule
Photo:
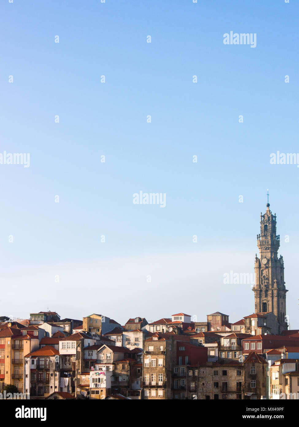
[[[254,294],[223,277],[253,272],[269,189],[299,327],[299,168],[270,164],[299,152],[298,12],[295,0],[1,2],[0,153],[30,153],[30,166],[0,164],[0,315],[236,322]],[[256,47],[224,44],[230,31]],[[165,193],[165,208],[133,204],[139,191]]]

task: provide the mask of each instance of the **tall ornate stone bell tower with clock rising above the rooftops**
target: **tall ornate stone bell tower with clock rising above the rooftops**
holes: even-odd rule
[[[276,235],[276,213],[273,215],[267,203],[264,215],[261,213],[261,233],[257,234],[259,257],[255,254],[255,313],[272,311],[279,323],[279,333],[287,329],[286,293],[284,286],[284,263],[277,252],[279,235]]]

